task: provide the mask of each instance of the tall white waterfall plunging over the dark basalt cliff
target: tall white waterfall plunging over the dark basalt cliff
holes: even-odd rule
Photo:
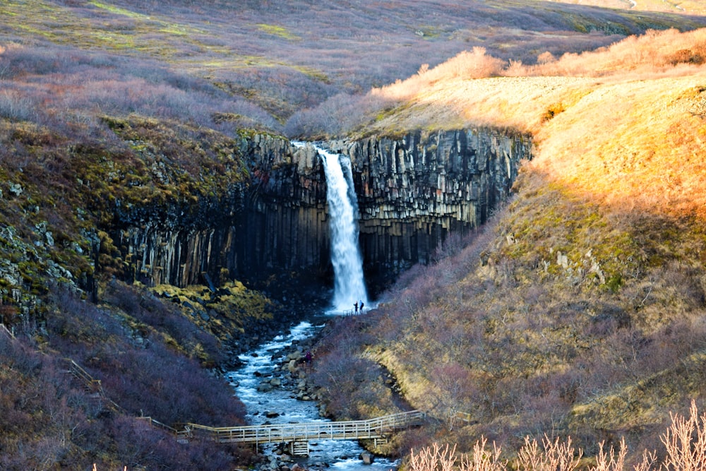
[[[358,247],[358,202],[353,188],[351,161],[345,155],[317,148],[326,174],[328,224],[333,264],[333,307],[349,311],[354,303],[368,303],[363,278],[363,260]]]

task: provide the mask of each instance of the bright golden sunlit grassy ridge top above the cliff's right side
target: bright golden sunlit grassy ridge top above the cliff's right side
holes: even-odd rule
[[[635,211],[703,218],[704,44],[703,30],[650,32],[477,80],[465,77],[484,73],[493,58],[460,54],[373,90],[402,105],[366,131],[519,129],[537,145],[529,168],[582,198],[618,210],[629,201]]]

